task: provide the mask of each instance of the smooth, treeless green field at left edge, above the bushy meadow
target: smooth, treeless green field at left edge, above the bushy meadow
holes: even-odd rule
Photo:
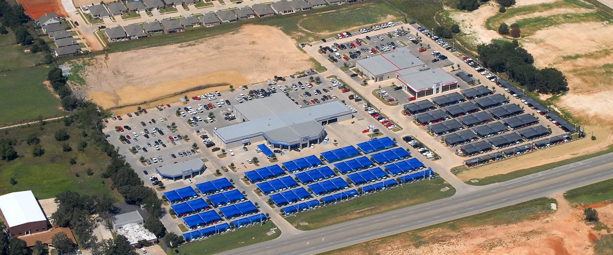
[[[37,66],[0,73],[0,125],[64,114],[59,99],[42,84],[48,72]]]

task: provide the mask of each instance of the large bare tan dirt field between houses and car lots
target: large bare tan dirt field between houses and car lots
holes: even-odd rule
[[[83,75],[89,98],[113,109],[291,75],[313,67],[308,59],[280,29],[248,25],[209,39],[98,56],[87,60]]]

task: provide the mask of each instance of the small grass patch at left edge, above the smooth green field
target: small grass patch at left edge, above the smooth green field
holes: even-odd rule
[[[0,54],[2,61],[0,62],[0,71],[9,71],[43,62],[45,55],[42,53],[26,53],[21,45],[13,44],[0,46]]]

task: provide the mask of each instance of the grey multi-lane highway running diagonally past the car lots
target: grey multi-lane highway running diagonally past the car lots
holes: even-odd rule
[[[479,190],[346,223],[285,235],[222,254],[317,254],[500,209],[613,178],[613,153],[483,186]]]

